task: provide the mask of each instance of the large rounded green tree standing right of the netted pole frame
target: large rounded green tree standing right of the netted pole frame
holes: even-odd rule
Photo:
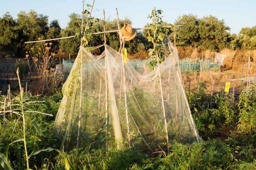
[[[227,47],[230,34],[224,20],[213,16],[198,18],[189,14],[179,17],[176,25],[180,45],[192,45],[212,51]]]

